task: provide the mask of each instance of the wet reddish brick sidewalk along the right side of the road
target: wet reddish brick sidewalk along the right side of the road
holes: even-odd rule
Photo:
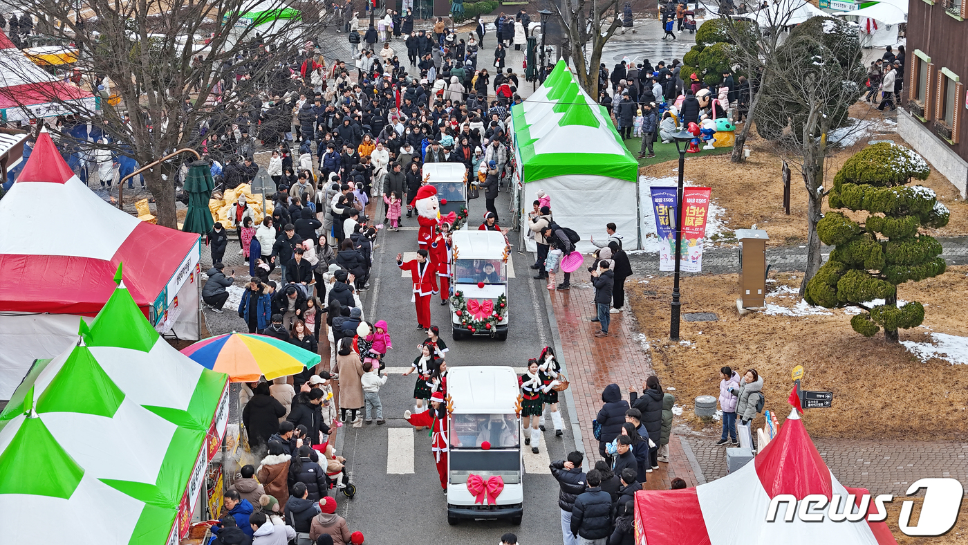
[[[651,375],[652,367],[649,354],[634,340],[634,318],[630,313],[612,315],[608,337],[592,336],[598,327],[589,321],[595,316],[595,307],[591,305],[594,288],[587,270],[590,263],[591,257],[586,257],[582,267],[572,273],[571,289],[554,290],[550,295],[563,350],[560,355],[568,370],[574,410],[582,426],[586,456],[591,464],[601,459],[598,441],[591,435],[590,421],[601,409],[602,390],[613,382],[619,384],[623,392],[632,384],[638,389]],[[669,464],[660,463],[659,469],[649,474],[645,485],[647,490],[668,490],[675,477],[685,479],[689,486],[698,484],[679,436],[670,439],[669,457]]]

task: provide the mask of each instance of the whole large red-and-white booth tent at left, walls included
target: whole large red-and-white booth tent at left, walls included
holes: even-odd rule
[[[199,236],[144,222],[76,177],[46,131],[0,200],[0,399],[35,359],[76,342],[114,289],[122,261],[141,313],[158,332],[198,339]]]

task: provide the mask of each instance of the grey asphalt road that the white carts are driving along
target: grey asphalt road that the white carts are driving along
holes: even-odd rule
[[[499,210],[507,206],[507,194],[499,197]],[[480,218],[484,213],[483,199],[471,201],[470,217]],[[416,222],[404,218],[404,227],[415,227]],[[511,233],[512,248],[517,247],[516,234]],[[240,275],[236,286],[241,288],[248,267],[242,266],[237,255],[237,244],[229,242],[225,257],[227,268],[236,269]],[[508,522],[462,522],[450,527],[445,519],[445,500],[441,493],[437,471],[430,453],[427,432],[414,431],[403,419],[404,410],[412,409],[414,378],[399,376],[416,355],[416,346],[424,335],[415,328],[413,304],[409,302],[408,278],[403,278],[396,266],[396,255],[416,250],[416,231],[381,233],[375,249],[372,288],[362,294],[366,318],[373,322],[385,319],[390,324],[394,349],[388,354],[387,367],[394,372],[380,390],[384,416],[387,424],[340,429],[338,450],[348,459],[352,482],[358,489],[354,500],[340,495],[339,512],[343,514],[352,530],[362,530],[367,542],[395,543],[402,535],[419,536],[426,543],[456,543],[493,545],[504,531],[515,531],[522,543],[552,543],[560,539],[558,509],[558,484],[548,470],[549,460],[563,459],[574,449],[575,440],[570,429],[562,438],[546,434],[548,444],[541,445],[541,452],[533,455],[526,451],[525,515],[520,527]],[[204,251],[203,269],[211,262]],[[452,367],[463,365],[509,365],[524,367],[529,357],[536,357],[541,347],[550,343],[551,328],[541,294],[532,289],[529,280],[529,257],[514,253],[509,260],[514,276],[508,296],[509,316],[513,330],[507,341],[476,338],[452,341],[447,327],[447,307],[439,305],[439,299],[431,306],[434,322],[440,325],[443,337],[449,344],[447,363]],[[243,268],[245,270],[243,271]],[[536,283],[535,283],[536,284]],[[234,287],[233,287],[234,288]],[[234,300],[234,299],[233,299]],[[237,302],[234,303],[237,305]],[[244,329],[242,320],[232,312],[233,303],[226,305],[227,312],[219,315],[210,311],[205,317],[211,333],[220,334]],[[563,407],[563,416],[569,421],[569,408]],[[570,428],[570,426],[566,427]],[[544,441],[542,441],[544,443]],[[401,469],[403,468],[403,469]],[[389,472],[411,470],[411,472]],[[401,509],[401,505],[408,508]],[[415,521],[419,521],[414,524]],[[549,535],[554,539],[549,539]]]

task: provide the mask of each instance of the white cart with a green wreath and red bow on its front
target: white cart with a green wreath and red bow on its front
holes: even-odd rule
[[[507,339],[507,258],[510,246],[499,231],[459,230],[451,235],[450,324],[454,340],[488,336]]]

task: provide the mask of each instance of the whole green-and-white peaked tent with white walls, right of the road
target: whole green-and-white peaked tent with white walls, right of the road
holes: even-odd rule
[[[511,108],[511,132],[515,177],[524,187],[522,206],[530,210],[538,190],[544,190],[552,198],[555,222],[582,236],[579,250],[593,249],[591,236],[604,239],[610,222],[619,227],[625,249],[638,248],[639,164],[608,109],[591,99],[564,61],[534,94]],[[527,215],[522,221],[527,224]]]

